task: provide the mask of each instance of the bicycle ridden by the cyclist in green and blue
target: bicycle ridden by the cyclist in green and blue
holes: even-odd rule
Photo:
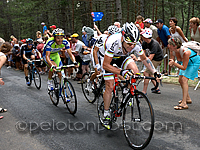
[[[52,80],[53,80],[53,90],[48,90],[48,94],[52,103],[57,106],[59,103],[59,98],[61,97],[63,103],[66,105],[70,114],[74,115],[77,111],[77,99],[76,93],[73,85],[65,76],[64,70],[69,67],[74,67],[75,65],[67,65],[62,67],[56,67],[54,71]],[[58,72],[61,72],[61,80],[58,78]],[[59,82],[60,81],[60,82]]]

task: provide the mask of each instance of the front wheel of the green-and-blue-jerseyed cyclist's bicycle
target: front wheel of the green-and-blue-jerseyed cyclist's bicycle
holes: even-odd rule
[[[69,82],[67,79],[64,79],[62,98],[69,112],[71,114],[75,114],[77,111],[76,93],[71,82]]]

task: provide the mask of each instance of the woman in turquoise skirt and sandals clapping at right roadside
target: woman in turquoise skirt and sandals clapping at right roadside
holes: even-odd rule
[[[179,105],[175,106],[174,109],[188,109],[188,103],[192,103],[192,100],[188,93],[188,80],[194,80],[198,75],[198,69],[200,66],[200,56],[189,48],[183,48],[182,42],[179,38],[170,38],[168,40],[168,47],[171,51],[176,53],[177,60],[179,63],[174,62],[170,59],[169,65],[175,66],[180,69],[179,71],[179,83],[182,88],[183,98],[179,101]]]

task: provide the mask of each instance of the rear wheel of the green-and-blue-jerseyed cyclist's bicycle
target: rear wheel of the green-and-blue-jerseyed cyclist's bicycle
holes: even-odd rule
[[[53,78],[53,90],[48,91],[48,94],[50,96],[51,102],[57,106],[59,102],[59,83],[57,82],[59,79],[57,76],[54,76]]]

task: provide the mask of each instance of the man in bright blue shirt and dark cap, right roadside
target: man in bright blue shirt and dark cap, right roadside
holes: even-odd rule
[[[167,49],[167,45],[168,45],[168,39],[171,38],[171,35],[170,35],[170,32],[169,32],[169,28],[164,25],[164,22],[162,19],[158,19],[156,22],[155,22],[157,28],[158,28],[158,37],[157,37],[157,41],[159,43],[162,44],[162,48],[163,48],[163,53],[164,55],[168,55],[168,49]],[[174,59],[172,57],[172,53],[170,52],[170,58]],[[164,75],[168,75],[167,73],[167,65],[168,65],[168,59],[164,59],[164,70],[163,70],[163,74]],[[169,67],[169,74],[170,74],[170,70],[171,70],[171,67]]]

